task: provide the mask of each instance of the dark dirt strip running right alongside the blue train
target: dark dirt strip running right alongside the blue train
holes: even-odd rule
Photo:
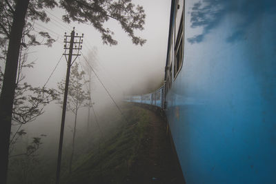
[[[166,120],[155,111],[144,110],[150,121],[126,183],[185,183],[166,133]]]

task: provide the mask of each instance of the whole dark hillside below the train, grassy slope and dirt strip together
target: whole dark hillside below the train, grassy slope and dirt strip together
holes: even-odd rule
[[[164,119],[150,110],[126,105],[127,122],[79,156],[62,183],[184,183]]]

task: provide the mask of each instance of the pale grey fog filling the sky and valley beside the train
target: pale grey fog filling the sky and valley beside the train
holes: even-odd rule
[[[95,114],[90,110],[90,121],[88,122],[88,108],[81,108],[77,118],[77,137],[90,128],[94,132],[108,132],[107,127],[111,128],[111,120],[115,122],[120,119],[122,114],[117,108],[121,104],[121,99],[126,94],[146,94],[160,87],[164,81],[164,67],[166,64],[166,50],[168,42],[168,26],[170,16],[170,1],[133,1],[135,4],[144,6],[146,11],[146,24],[144,30],[136,32],[140,37],[146,39],[143,46],[132,44],[131,39],[121,30],[116,21],[110,20],[106,27],[115,32],[114,38],[118,41],[117,45],[103,45],[101,34],[92,25],[79,23],[62,23],[61,15],[63,10],[55,8],[48,10],[49,23],[37,22],[34,30],[46,31],[51,37],[57,39],[52,47],[45,45],[32,47],[28,54],[28,62],[34,61],[34,68],[23,70],[26,75],[24,81],[34,87],[42,87],[48,80],[55,65],[61,59],[57,69],[50,77],[46,87],[57,89],[57,83],[66,76],[66,59],[63,54],[63,35],[70,34],[72,27],[78,34],[84,34],[81,56],[75,62],[81,62],[86,73],[90,70],[84,58],[95,70],[92,72],[91,96],[95,103],[93,108],[99,121],[96,124]],[[84,57],[83,57],[84,56]],[[86,77],[88,77],[86,75]],[[100,82],[100,81],[101,82]],[[103,83],[103,85],[101,84]],[[108,92],[110,94],[108,94]],[[113,99],[110,98],[112,96]],[[114,101],[117,103],[115,104]],[[109,122],[109,123],[105,123]],[[72,141],[72,127],[74,114],[66,112],[66,125],[64,135],[64,146]],[[57,156],[59,143],[59,132],[61,124],[61,107],[57,101],[50,103],[44,108],[44,113],[36,120],[26,123],[21,127],[27,134],[19,144],[26,145],[33,136],[45,134],[41,139],[41,154],[51,154]],[[12,127],[12,132],[17,129]],[[19,146],[20,147],[20,146]],[[20,148],[21,149],[21,148]],[[14,152],[20,152],[18,149]]]

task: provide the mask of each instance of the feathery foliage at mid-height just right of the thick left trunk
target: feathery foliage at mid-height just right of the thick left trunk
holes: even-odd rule
[[[52,88],[32,87],[32,85],[23,82],[25,75],[24,68],[33,68],[34,62],[28,61],[28,49],[21,49],[19,66],[17,72],[16,89],[12,108],[12,125],[26,124],[34,121],[37,116],[43,114],[43,108],[51,101],[57,99],[57,90]],[[0,90],[2,88],[3,72],[0,68]]]

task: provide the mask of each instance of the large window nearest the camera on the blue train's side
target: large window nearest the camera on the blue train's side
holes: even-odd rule
[[[181,70],[182,63],[183,63],[183,54],[184,54],[184,31],[183,31],[183,25],[184,25],[184,19],[183,19],[183,14],[181,17],[180,25],[179,25],[179,30],[177,33],[177,40],[175,43],[175,62],[174,62],[174,77],[177,76],[179,71]]]

